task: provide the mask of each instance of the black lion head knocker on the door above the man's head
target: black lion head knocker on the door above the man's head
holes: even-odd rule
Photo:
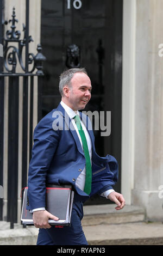
[[[66,66],[67,68],[80,67],[80,49],[77,45],[68,45],[66,52]]]

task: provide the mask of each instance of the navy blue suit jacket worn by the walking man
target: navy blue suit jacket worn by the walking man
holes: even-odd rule
[[[118,163],[111,155],[100,157],[95,151],[95,137],[90,119],[82,114],[92,143],[92,191],[87,195],[76,186],[76,179],[85,167],[85,157],[77,132],[65,109],[59,104],[37,124],[34,130],[32,159],[28,172],[27,209],[45,207],[46,182],[72,184],[79,200],[109,190],[117,182]]]

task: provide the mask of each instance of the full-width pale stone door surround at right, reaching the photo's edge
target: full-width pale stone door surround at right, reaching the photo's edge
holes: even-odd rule
[[[162,0],[123,0],[121,187],[150,221],[163,220],[162,23]]]

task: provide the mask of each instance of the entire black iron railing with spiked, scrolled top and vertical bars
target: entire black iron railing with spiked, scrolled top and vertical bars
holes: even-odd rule
[[[41,118],[41,92],[42,92],[42,63],[45,57],[42,54],[41,45],[37,45],[37,53],[29,53],[29,44],[33,41],[29,35],[29,0],[26,0],[26,25],[23,24],[23,36],[16,29],[16,11],[12,10],[12,18],[9,21],[3,19],[3,1],[0,0],[0,44],[3,45],[3,58],[0,58],[0,185],[3,186],[3,159],[4,159],[4,88],[7,86],[5,77],[8,77],[8,188],[7,188],[7,216],[6,220],[10,222],[10,227],[14,228],[17,222],[17,195],[18,195],[18,137],[19,137],[19,87],[23,87],[22,104],[22,173],[21,187],[27,185],[27,166],[28,166],[28,140],[29,140],[29,158],[33,145],[33,93],[34,76],[38,81],[38,121]],[[10,24],[10,30],[4,35],[4,26]],[[24,59],[24,63],[23,63]],[[22,77],[22,84],[20,84]],[[28,87],[30,86],[30,99]],[[30,102],[30,117],[28,118],[28,102]],[[28,138],[28,126],[30,135]],[[5,188],[4,188],[5,190]],[[0,220],[3,216],[3,199],[0,199]]]

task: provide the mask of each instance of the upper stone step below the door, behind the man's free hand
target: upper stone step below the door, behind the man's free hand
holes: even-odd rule
[[[89,226],[145,221],[145,210],[140,206],[126,205],[122,210],[115,210],[115,207],[115,204],[84,206],[82,225]]]

